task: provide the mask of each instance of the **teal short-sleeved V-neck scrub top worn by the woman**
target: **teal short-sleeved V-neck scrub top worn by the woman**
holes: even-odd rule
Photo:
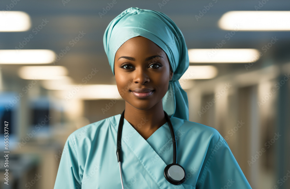
[[[122,188],[116,156],[120,117],[121,114],[111,116],[70,134],[54,189]],[[216,129],[176,117],[170,120],[176,135],[177,163],[185,169],[186,180],[174,185],[164,177],[164,168],[173,162],[168,123],[145,140],[124,118],[121,142],[124,188],[251,188]]]

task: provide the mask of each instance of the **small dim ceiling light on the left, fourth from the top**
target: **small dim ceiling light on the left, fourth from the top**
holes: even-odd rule
[[[73,84],[73,79],[68,76],[63,76],[61,79],[42,80],[42,87],[48,90],[68,90]]]

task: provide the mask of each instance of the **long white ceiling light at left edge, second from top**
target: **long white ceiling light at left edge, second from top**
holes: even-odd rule
[[[55,53],[48,49],[0,50],[0,64],[50,64]]]

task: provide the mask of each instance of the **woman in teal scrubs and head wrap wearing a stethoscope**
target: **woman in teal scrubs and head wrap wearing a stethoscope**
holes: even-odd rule
[[[178,81],[188,52],[168,16],[128,8],[106,28],[104,48],[125,110],[70,134],[55,189],[251,188],[220,133],[189,121]]]

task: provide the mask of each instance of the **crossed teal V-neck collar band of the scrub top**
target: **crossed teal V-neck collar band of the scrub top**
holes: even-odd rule
[[[117,131],[119,120],[121,114],[115,116],[115,129]],[[181,125],[175,123],[174,118],[171,117],[171,123],[173,125],[173,130],[176,132]],[[125,145],[133,152],[133,154],[138,158],[139,162],[146,169],[147,173],[151,178],[156,182],[159,188],[168,188],[170,184],[164,177],[164,168],[167,164],[162,160],[158,155],[158,151],[171,139],[171,133],[169,130],[168,123],[159,127],[147,140],[145,140],[135,128],[124,118],[123,130],[122,130],[122,147],[125,148]],[[172,140],[172,139],[171,139]],[[126,156],[129,154],[123,155],[124,164],[126,163]],[[175,188],[184,189],[183,185],[172,185]]]

